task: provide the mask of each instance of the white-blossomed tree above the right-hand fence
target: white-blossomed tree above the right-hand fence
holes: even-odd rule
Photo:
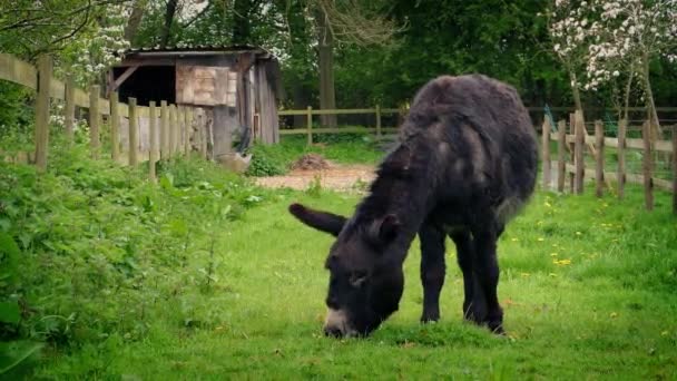
[[[677,62],[677,1],[675,0],[556,0],[547,13],[550,38],[578,90],[598,91],[625,80],[622,105],[629,105],[634,81],[658,124],[650,84],[650,62]]]

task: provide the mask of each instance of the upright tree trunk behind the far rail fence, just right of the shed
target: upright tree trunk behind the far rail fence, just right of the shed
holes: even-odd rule
[[[320,108],[336,108],[336,95],[334,92],[334,36],[330,30],[326,14],[317,11],[318,56],[320,56]],[[323,115],[321,117],[323,127],[336,127],[335,115]]]

